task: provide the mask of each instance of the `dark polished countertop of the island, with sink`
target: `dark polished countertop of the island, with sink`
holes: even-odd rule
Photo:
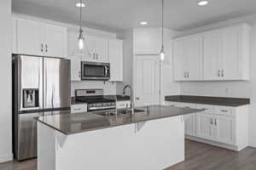
[[[64,134],[84,133],[108,127],[117,127],[137,122],[146,122],[170,116],[183,116],[203,110],[178,108],[165,105],[151,105],[138,108],[144,111],[134,115],[117,114],[114,116],[101,116],[96,113],[61,114],[54,116],[40,116],[36,120],[54,128]],[[102,111],[104,112],[104,111]],[[106,111],[105,111],[106,112]]]

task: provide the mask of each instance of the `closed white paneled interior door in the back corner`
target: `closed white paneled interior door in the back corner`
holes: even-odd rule
[[[136,106],[160,104],[160,58],[158,55],[137,55]]]

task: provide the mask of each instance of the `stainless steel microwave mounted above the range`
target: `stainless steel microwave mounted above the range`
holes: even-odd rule
[[[82,80],[103,80],[110,79],[110,64],[98,62],[81,62],[81,79]]]

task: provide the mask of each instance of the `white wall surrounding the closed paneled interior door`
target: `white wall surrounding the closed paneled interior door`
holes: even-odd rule
[[[179,94],[178,82],[172,82],[172,37],[177,36],[176,31],[165,29],[164,45],[166,50],[166,62],[162,65],[161,97],[165,95]],[[119,36],[118,36],[119,37]],[[159,54],[161,47],[161,31],[159,27],[137,28],[127,31],[124,35],[124,81],[133,83],[133,62],[136,54]],[[117,93],[122,92],[124,83],[117,83]]]

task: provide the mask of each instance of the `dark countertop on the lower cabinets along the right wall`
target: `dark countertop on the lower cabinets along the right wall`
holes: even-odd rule
[[[166,101],[206,104],[206,105],[226,105],[226,106],[234,106],[234,107],[250,104],[250,99],[246,99],[246,98],[223,98],[223,97],[191,96],[191,95],[166,96]]]

